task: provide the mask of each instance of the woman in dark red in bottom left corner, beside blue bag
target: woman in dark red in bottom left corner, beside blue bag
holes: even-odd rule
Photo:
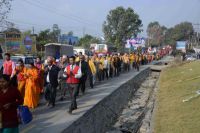
[[[17,87],[9,82],[9,77],[0,78],[0,133],[19,133],[17,107],[23,103],[23,98]]]

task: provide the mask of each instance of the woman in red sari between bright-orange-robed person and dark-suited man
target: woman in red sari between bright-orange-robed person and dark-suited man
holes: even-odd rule
[[[38,57],[36,59],[35,67],[39,71],[39,88],[40,88],[40,93],[43,93],[43,91],[44,91],[44,65],[42,64],[40,57]]]

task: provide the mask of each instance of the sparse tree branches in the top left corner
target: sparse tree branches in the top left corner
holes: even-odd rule
[[[5,28],[4,25],[7,24],[6,19],[11,9],[11,1],[13,0],[0,0],[0,25],[2,26],[0,28]]]

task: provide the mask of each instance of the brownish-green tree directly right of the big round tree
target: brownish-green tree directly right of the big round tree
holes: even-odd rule
[[[167,28],[157,21],[149,23],[147,27],[148,43],[150,46],[161,46],[164,43]]]

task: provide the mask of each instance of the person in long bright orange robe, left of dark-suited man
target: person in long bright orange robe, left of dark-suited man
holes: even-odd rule
[[[24,105],[29,108],[36,108],[40,98],[40,88],[38,84],[39,72],[34,66],[34,63],[30,63],[25,73],[26,86],[25,86],[25,97]]]

